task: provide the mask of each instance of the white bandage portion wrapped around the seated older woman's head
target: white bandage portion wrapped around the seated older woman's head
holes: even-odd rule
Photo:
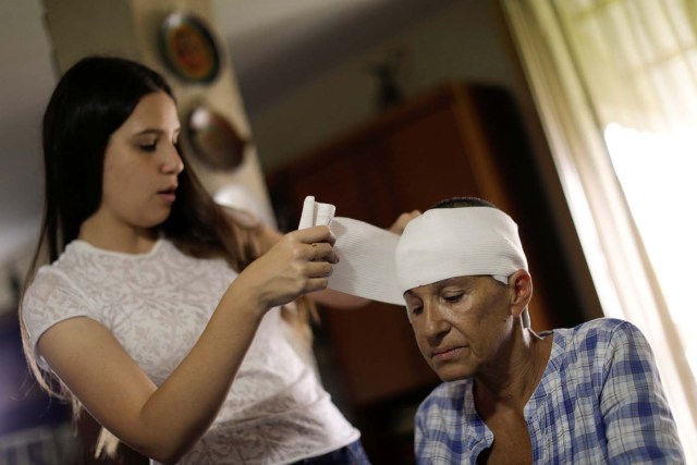
[[[400,291],[462,276],[527,270],[517,225],[489,207],[437,208],[409,221],[395,250]],[[499,278],[500,281],[504,281]]]

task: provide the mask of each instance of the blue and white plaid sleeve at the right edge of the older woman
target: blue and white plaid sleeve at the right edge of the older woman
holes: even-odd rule
[[[685,463],[653,354],[633,325],[614,328],[604,374],[600,408],[610,463]]]

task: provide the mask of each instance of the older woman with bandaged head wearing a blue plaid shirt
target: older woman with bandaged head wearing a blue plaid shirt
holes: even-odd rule
[[[413,220],[396,273],[418,346],[445,381],[416,415],[418,463],[685,462],[637,328],[529,328],[517,227],[491,204],[450,199]]]

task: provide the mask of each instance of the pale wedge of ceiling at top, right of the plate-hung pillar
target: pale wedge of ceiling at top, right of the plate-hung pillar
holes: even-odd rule
[[[453,1],[215,0],[213,5],[245,107],[255,113]]]

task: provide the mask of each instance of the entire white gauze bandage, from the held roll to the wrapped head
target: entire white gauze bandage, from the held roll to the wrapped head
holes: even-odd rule
[[[404,305],[404,292],[420,285],[461,276],[492,276],[508,283],[512,273],[527,270],[516,223],[496,208],[428,210],[409,221],[401,236],[333,213],[332,205],[307,197],[298,229],[330,225],[340,261],[329,287],[337,291]],[[523,322],[529,327],[527,310]]]

